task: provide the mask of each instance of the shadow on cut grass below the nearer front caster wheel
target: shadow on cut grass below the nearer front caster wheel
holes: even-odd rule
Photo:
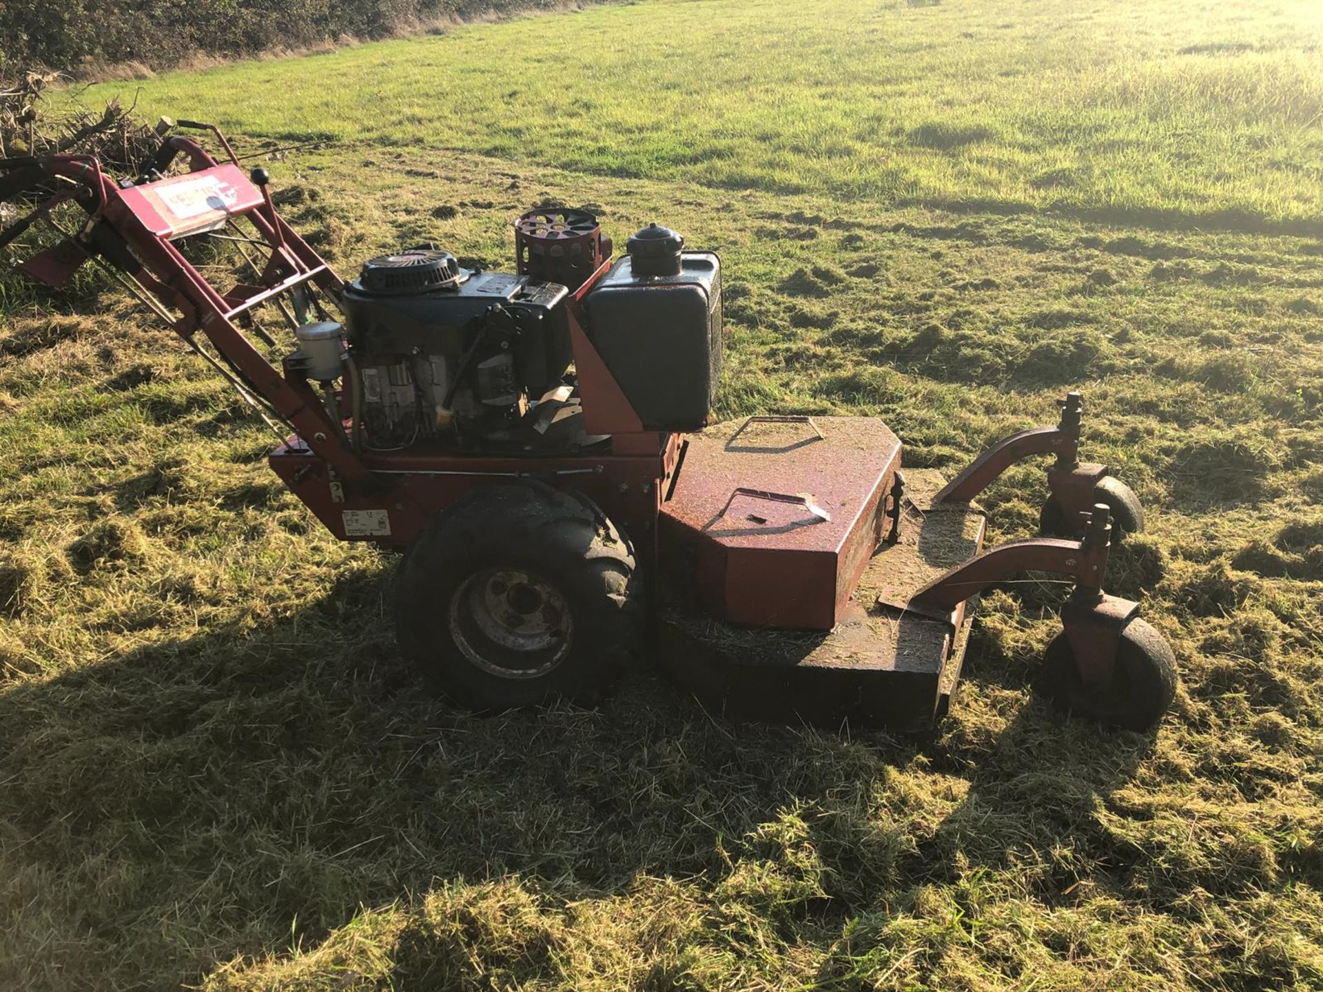
[[[986,927],[1004,929],[1017,914],[1045,922],[1099,895],[1130,898],[1135,852],[1109,836],[1099,811],[1151,747],[1151,735],[1021,709],[974,763],[962,761],[963,799],[904,858],[900,884],[844,921],[812,987],[875,988],[880,973],[902,968],[926,981],[914,958],[941,962],[945,948],[982,946]],[[934,750],[941,770],[963,749]],[[1017,973],[1016,955],[992,958],[1008,977],[1031,979]]]

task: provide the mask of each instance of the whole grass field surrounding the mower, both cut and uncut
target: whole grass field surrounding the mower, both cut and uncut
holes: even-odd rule
[[[544,200],[721,251],[725,415],[876,414],[957,468],[1082,389],[1150,511],[1113,590],[1183,685],[1155,735],[1036,701],[1035,581],[930,738],[650,671],[466,717],[393,648],[394,561],[205,366],[5,275],[0,987],[1323,988],[1320,46],[1304,0],[646,0],[144,83],[328,139],[267,165],[344,271],[508,266]]]

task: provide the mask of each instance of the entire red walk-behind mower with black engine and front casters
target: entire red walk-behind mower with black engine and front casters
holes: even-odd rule
[[[1171,702],[1171,648],[1103,591],[1143,512],[1080,462],[1078,393],[950,481],[902,468],[872,418],[709,423],[716,254],[651,225],[613,258],[590,213],[536,209],[513,272],[423,245],[345,282],[265,169],[213,126],[177,128],[221,160],[177,132],[123,180],[89,156],[4,160],[0,200],[32,209],[0,246],[52,225],[22,272],[60,287],[103,265],[278,429],[271,468],[336,537],[404,552],[400,645],[463,706],[590,702],[655,653],[730,716],[921,729],[955,693],[979,593],[1027,570],[1074,582],[1039,679],[1053,704],[1144,729]],[[221,247],[242,274],[213,286],[198,259],[217,271]],[[983,548],[974,500],[1039,454],[1058,536]]]

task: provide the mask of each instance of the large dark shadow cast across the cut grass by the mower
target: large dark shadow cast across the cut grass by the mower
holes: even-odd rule
[[[22,984],[83,968],[173,985],[466,880],[516,877],[554,905],[689,880],[755,911],[775,897],[778,926],[831,942],[970,865],[1074,849],[1043,872],[1058,893],[1115,858],[1094,803],[1136,738],[1037,704],[926,741],[730,725],[648,673],[599,710],[475,718],[423,694],[389,602],[388,575],[351,575],[292,615],[0,694],[0,919]],[[401,977],[484,952],[451,944],[415,940]]]

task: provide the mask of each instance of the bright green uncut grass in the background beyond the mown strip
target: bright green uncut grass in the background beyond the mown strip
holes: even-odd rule
[[[1310,0],[662,0],[171,75],[142,101],[732,189],[1299,226],[1323,208],[1319,45]]]

